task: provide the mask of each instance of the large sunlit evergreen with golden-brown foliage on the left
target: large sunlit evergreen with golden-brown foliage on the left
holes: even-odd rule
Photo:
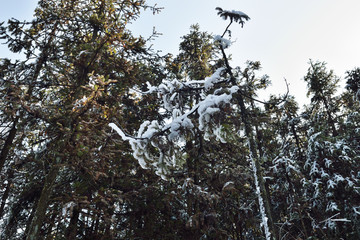
[[[8,181],[28,179],[17,182],[19,193],[10,192],[13,204],[3,223],[11,224],[4,226],[4,238],[76,237],[83,234],[80,222],[89,218],[84,211],[92,213],[99,206],[104,210],[94,218],[94,234],[113,237],[113,207],[100,204],[107,193],[99,190],[104,188],[99,180],[115,174],[112,164],[106,164],[110,155],[104,127],[113,116],[121,119],[122,109],[134,102],[129,87],[146,81],[156,68],[145,41],[127,30],[143,8],[141,0],[39,1],[34,20],[2,26],[9,49],[25,53],[26,59],[2,62],[10,117],[1,163],[7,169],[14,164],[8,154],[12,150],[22,171],[9,173]],[[101,148],[99,142],[104,143]],[[69,222],[61,220],[61,206],[71,206]],[[13,221],[21,214],[24,221]],[[54,231],[61,228],[67,230]]]

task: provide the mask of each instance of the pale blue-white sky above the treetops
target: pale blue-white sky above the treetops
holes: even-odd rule
[[[3,0],[0,21],[9,17],[31,18],[36,0]],[[325,61],[335,73],[344,77],[347,70],[360,67],[359,0],[151,0],[164,7],[158,15],[144,12],[131,28],[148,37],[153,27],[162,33],[153,43],[163,53],[176,54],[180,37],[191,24],[199,23],[203,31],[221,34],[227,22],[216,15],[215,7],[239,10],[248,14],[249,22],[231,28],[236,41],[228,52],[232,66],[244,66],[246,60],[259,60],[262,74],[273,82],[274,94],[284,93],[284,78],[291,94],[306,102],[305,83],[309,59]],[[0,57],[7,52],[0,49]]]

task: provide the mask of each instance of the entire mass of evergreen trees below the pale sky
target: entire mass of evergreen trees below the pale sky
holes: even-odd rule
[[[226,53],[245,13],[159,56],[128,30],[143,9],[41,0],[1,23],[24,58],[0,60],[0,238],[360,239],[360,69],[336,95],[310,61],[308,106],[258,101],[260,63]]]

